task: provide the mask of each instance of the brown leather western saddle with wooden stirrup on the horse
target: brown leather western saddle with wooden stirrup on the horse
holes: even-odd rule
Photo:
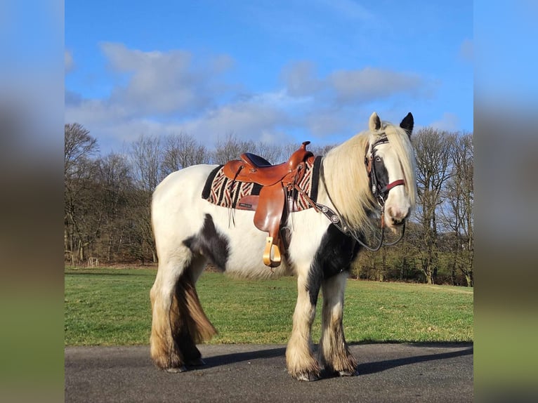
[[[258,230],[268,232],[263,263],[269,267],[277,267],[282,262],[280,249],[284,248],[280,227],[287,219],[287,192],[297,188],[296,184],[306,171],[306,161],[314,159],[314,154],[306,150],[308,144],[310,141],[305,141],[282,164],[271,165],[263,157],[245,152],[241,154],[240,160],[228,161],[223,166],[227,178],[262,186],[259,196],[242,197],[237,203],[237,209],[255,211],[254,225]]]

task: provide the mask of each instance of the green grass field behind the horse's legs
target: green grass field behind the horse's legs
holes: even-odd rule
[[[65,269],[65,345],[149,343],[155,269]],[[218,330],[209,343],[286,343],[296,302],[293,277],[239,280],[205,272],[197,284]],[[320,338],[322,296],[313,325]],[[473,290],[349,280],[348,342],[473,341]]]

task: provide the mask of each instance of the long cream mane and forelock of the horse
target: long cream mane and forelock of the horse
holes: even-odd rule
[[[355,229],[371,225],[368,215],[375,209],[376,201],[369,188],[365,154],[369,144],[383,134],[399,157],[409,201],[412,206],[416,202],[416,162],[407,132],[383,122],[379,131],[358,133],[327,152],[323,161],[325,183],[330,197],[339,213]]]

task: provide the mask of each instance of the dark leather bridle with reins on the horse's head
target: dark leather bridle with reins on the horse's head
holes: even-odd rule
[[[323,204],[313,202],[313,204],[315,204],[315,208],[317,207],[317,209],[319,209],[325,216],[327,216],[327,218],[331,220],[334,226],[338,228],[341,232],[343,232],[343,234],[346,234],[352,237],[353,239],[355,239],[356,242],[364,246],[365,249],[368,249],[369,251],[372,251],[372,252],[379,251],[379,249],[381,249],[381,246],[383,245],[393,246],[395,244],[398,244],[398,242],[400,242],[400,240],[405,234],[405,220],[404,220],[402,224],[402,233],[400,234],[400,237],[398,237],[398,239],[396,239],[394,242],[388,242],[388,243],[383,242],[384,237],[385,237],[385,202],[388,197],[388,192],[390,192],[391,189],[393,189],[393,187],[396,187],[399,185],[405,185],[405,180],[398,179],[382,187],[381,184],[379,183],[379,180],[377,179],[375,164],[373,161],[375,158],[376,147],[378,145],[386,144],[386,143],[388,143],[388,138],[386,135],[383,134],[378,140],[374,141],[374,143],[367,146],[367,150],[365,152],[365,166],[366,166],[366,170],[367,170],[369,180],[370,180],[370,189],[372,190],[372,194],[374,194],[374,198],[376,199],[376,202],[377,204],[379,204],[379,207],[381,209],[381,236],[379,238],[379,244],[377,246],[373,246],[373,247],[368,246],[367,244],[362,242],[362,240],[360,239],[362,235],[361,232],[350,228],[350,226],[343,219],[341,213],[339,213],[338,209],[336,208],[336,205],[334,204],[332,200],[331,194],[329,193],[329,189],[327,188],[327,183],[325,183],[323,164],[321,165],[320,176],[322,179],[323,186],[325,187],[325,191],[327,192],[327,196],[329,197],[329,201],[334,206],[334,209],[336,210],[336,212],[332,211],[332,209],[330,209],[327,206],[324,206]]]

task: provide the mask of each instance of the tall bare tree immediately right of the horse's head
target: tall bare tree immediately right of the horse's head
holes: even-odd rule
[[[418,255],[426,282],[434,284],[438,270],[438,209],[443,202],[443,187],[451,175],[454,135],[435,128],[422,128],[413,137],[413,143],[419,193],[416,218],[422,228]]]

